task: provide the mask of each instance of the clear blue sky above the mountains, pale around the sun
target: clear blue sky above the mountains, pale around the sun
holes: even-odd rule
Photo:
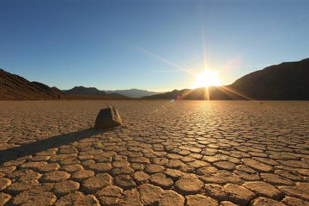
[[[190,88],[309,58],[309,1],[3,1],[0,68],[50,87]]]

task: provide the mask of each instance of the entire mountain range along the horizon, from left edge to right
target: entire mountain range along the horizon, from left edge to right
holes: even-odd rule
[[[100,91],[95,87],[73,87],[61,91],[40,82],[0,69],[0,100],[106,100],[106,99],[181,99],[181,100],[309,100],[309,58],[254,71],[233,84],[220,87],[182,89],[156,93],[139,89]]]

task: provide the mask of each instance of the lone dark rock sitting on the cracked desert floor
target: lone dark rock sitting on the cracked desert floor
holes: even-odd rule
[[[122,119],[113,106],[101,109],[97,119],[95,119],[95,128],[111,128],[121,124]]]

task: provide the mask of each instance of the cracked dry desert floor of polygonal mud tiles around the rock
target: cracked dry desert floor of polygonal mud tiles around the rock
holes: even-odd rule
[[[0,205],[309,205],[308,137],[309,102],[3,101]]]

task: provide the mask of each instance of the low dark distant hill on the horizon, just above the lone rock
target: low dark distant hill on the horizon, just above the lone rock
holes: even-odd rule
[[[95,87],[73,87],[72,89],[63,91],[63,93],[72,94],[72,95],[91,95],[91,96],[108,96],[108,97],[122,97],[126,98],[125,95],[119,93],[106,93],[105,91],[100,91]]]

